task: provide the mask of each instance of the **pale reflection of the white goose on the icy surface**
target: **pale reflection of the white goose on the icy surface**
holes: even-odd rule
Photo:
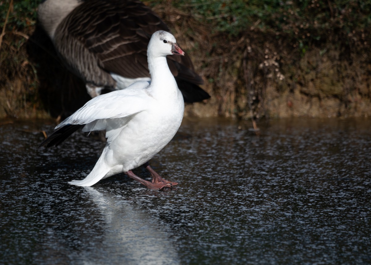
[[[86,187],[91,200],[105,218],[102,248],[86,254],[83,264],[157,265],[179,264],[173,241],[152,217],[108,192]],[[92,254],[92,255],[91,255]]]

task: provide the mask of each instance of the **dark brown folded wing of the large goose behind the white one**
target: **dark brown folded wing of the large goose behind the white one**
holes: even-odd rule
[[[91,19],[82,17],[83,12],[91,13]],[[71,17],[69,33],[84,42],[103,69],[127,78],[149,76],[150,37],[157,30],[169,31],[160,17],[140,1],[87,1],[77,7]],[[87,32],[86,29],[93,30]]]

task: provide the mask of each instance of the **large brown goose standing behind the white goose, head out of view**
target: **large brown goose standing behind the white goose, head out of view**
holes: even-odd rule
[[[155,31],[170,31],[138,0],[46,0],[38,16],[63,63],[92,97],[149,81],[148,42]],[[188,56],[168,56],[167,62],[185,102],[210,98]]]

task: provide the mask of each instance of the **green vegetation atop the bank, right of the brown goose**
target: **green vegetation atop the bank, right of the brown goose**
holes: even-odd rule
[[[154,7],[161,1],[151,1]],[[162,1],[166,4],[167,1]],[[354,36],[371,26],[370,0],[188,0],[173,6],[208,24],[212,33],[235,36],[259,29],[298,43],[325,42],[329,35]],[[360,34],[359,39],[365,39]]]

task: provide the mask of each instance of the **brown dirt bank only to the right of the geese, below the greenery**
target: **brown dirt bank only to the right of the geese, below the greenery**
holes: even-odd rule
[[[178,38],[185,38],[212,95],[207,104],[192,107],[195,115],[243,119],[371,115],[371,34],[363,29],[357,33],[330,29],[321,40],[302,45],[288,35],[254,26],[235,36],[211,35],[192,17],[177,18],[172,27]],[[172,21],[168,17],[167,23]],[[184,27],[193,29],[186,37]]]

